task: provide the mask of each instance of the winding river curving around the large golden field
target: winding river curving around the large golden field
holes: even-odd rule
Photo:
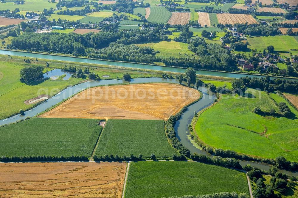
[[[45,102],[39,104],[33,109],[30,109],[28,111],[25,111],[25,115],[21,116],[20,114],[0,120],[0,125],[4,124],[9,124],[16,122],[18,120],[24,119],[26,117],[33,117],[44,110],[52,107],[53,105],[69,98],[70,96],[76,94],[77,92],[80,92],[84,89],[88,89],[90,87],[95,87],[95,86],[103,86],[103,85],[112,85],[112,84],[129,84],[129,83],[149,83],[149,82],[169,82],[169,83],[175,83],[179,84],[179,81],[177,79],[164,79],[164,78],[135,78],[132,79],[130,82],[124,81],[124,80],[102,80],[102,81],[88,81],[85,83],[81,83],[78,85],[75,85],[73,87],[67,87],[57,95],[53,96],[52,98],[49,98]],[[209,95],[207,92],[207,89],[205,87],[199,87],[199,90],[203,93],[203,98],[199,100],[198,102],[190,105],[185,111],[181,119],[176,122],[175,124],[175,131],[177,133],[177,138],[181,141],[181,143],[187,147],[191,153],[197,152],[199,154],[204,154],[208,155],[207,152],[204,152],[203,150],[200,150],[199,148],[195,147],[190,140],[187,137],[187,131],[188,131],[188,124],[191,122],[193,116],[194,116],[194,111],[198,112],[201,111],[202,109],[210,106],[213,101],[215,96],[214,95]],[[240,164],[242,166],[245,166],[246,164],[251,164],[252,166],[257,166],[263,170],[269,170],[270,166],[266,164],[259,164],[256,162],[249,162],[249,161],[240,161]],[[284,170],[281,170],[281,172],[286,172],[288,174],[292,174],[295,176],[298,176],[298,172],[287,172]]]

